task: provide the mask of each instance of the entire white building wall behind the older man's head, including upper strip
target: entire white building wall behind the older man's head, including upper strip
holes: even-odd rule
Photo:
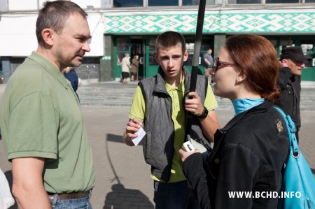
[[[10,12],[0,15],[0,57],[27,57],[37,48],[35,34],[38,8],[42,8],[46,0],[8,0]],[[73,0],[83,9],[87,6],[101,8],[101,0]],[[3,10],[3,8],[1,8]],[[104,55],[104,21],[102,14],[87,10],[87,22],[90,26],[92,39],[91,51],[86,57],[102,57]]]

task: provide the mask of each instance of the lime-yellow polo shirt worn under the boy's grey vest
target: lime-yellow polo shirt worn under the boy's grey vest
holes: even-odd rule
[[[169,177],[169,182],[179,182],[186,180],[183,174],[183,169],[181,166],[181,156],[179,155],[179,149],[183,145],[183,140],[185,137],[185,108],[183,106],[183,97],[185,95],[185,79],[177,87],[172,87],[167,82],[165,83],[165,88],[172,98],[172,120],[174,122],[174,156],[172,161],[171,175]],[[214,110],[218,107],[216,97],[214,92],[212,92],[211,86],[208,84],[208,90],[206,98],[204,99],[204,106],[208,110]],[[132,106],[130,108],[131,119],[138,118],[139,120],[144,120],[146,114],[146,103],[144,101],[144,96],[141,92],[141,88],[138,86],[135,93],[134,99],[132,101]],[[151,175],[153,180],[160,181],[156,176]]]

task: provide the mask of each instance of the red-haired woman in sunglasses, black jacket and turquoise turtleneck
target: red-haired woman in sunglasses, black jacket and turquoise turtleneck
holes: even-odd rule
[[[231,36],[218,52],[214,94],[232,101],[235,117],[216,131],[206,161],[179,150],[202,208],[276,208],[289,152],[286,123],[273,107],[278,73],[274,46],[262,36]]]

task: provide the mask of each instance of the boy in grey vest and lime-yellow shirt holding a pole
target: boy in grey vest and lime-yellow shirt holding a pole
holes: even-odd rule
[[[218,104],[203,75],[197,76],[196,92],[189,92],[190,73],[183,66],[188,50],[181,34],[160,34],[155,50],[158,74],[139,82],[123,137],[127,145],[134,145],[132,138],[144,126],[144,157],[151,165],[155,208],[200,208],[183,175],[178,150],[186,138],[186,111],[194,115],[192,133],[196,138],[213,140],[219,128],[214,110]],[[192,99],[185,100],[186,95]]]

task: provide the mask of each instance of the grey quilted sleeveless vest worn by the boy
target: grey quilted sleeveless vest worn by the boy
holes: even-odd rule
[[[189,92],[190,73],[183,67],[185,75],[185,93]],[[174,154],[174,122],[172,121],[172,98],[165,88],[161,67],[153,78],[146,78],[139,82],[144,100],[146,101],[146,117],[143,139],[144,159],[151,165],[151,173],[168,182],[172,168]],[[196,92],[202,103],[207,94],[207,78],[197,76]],[[183,101],[184,102],[184,101]],[[191,138],[207,140],[197,117],[193,119]]]

